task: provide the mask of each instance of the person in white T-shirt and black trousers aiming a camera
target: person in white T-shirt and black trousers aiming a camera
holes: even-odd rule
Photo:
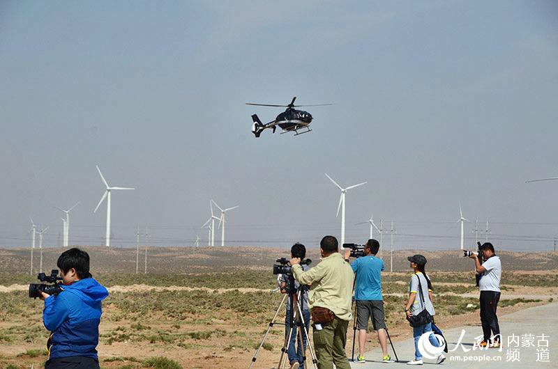
[[[502,276],[502,262],[495,255],[494,246],[490,242],[485,242],[478,248],[485,260],[482,265],[478,260],[477,253],[470,253],[469,258],[475,262],[475,269],[479,274],[478,289],[481,290],[480,306],[481,306],[481,324],[483,326],[483,340],[481,347],[499,348],[500,343],[500,327],[498,325],[498,317],[496,316],[496,308],[500,300],[500,277]],[[494,342],[490,339],[490,333],[494,335]]]

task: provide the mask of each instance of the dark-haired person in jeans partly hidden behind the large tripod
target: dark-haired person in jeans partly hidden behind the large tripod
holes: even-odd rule
[[[291,258],[300,258],[304,260],[306,258],[306,247],[303,244],[296,243],[291,247]],[[302,270],[304,272],[308,271],[310,266],[307,264],[302,265]],[[282,274],[280,279],[280,291],[281,293],[289,293],[289,276],[287,274]],[[294,282],[294,288],[298,291],[300,287],[299,282]],[[298,297],[299,304],[301,306],[301,311],[304,319],[304,326],[308,332],[310,329],[310,311],[308,310],[308,291],[306,288],[301,289],[301,295]],[[291,297],[289,296],[287,300],[287,315],[285,315],[285,337],[289,334],[289,317],[291,316]],[[298,311],[292,312],[292,316],[297,316]],[[296,320],[298,322],[298,319]],[[291,369],[304,368],[304,352],[306,351],[306,333],[302,331],[302,340],[300,338],[296,339],[296,327],[291,331],[289,350],[287,354],[289,355],[289,365]],[[298,342],[298,344],[296,344]],[[296,344],[296,347],[295,347]]]

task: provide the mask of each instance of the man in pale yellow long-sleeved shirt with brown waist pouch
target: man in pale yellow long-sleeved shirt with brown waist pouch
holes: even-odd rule
[[[347,326],[351,320],[353,271],[338,251],[337,239],[322,238],[319,264],[308,272],[299,265],[300,258],[292,258],[292,272],[296,281],[310,285],[308,305],[312,314],[314,346],[319,369],[350,369],[345,343]]]

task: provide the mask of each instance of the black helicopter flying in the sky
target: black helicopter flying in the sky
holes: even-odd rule
[[[273,105],[273,104],[253,104],[251,102],[247,102],[246,105],[255,105],[257,107],[285,107],[285,111],[280,113],[275,120],[271,120],[271,122],[266,123],[265,125],[262,123],[261,120],[257,117],[257,114],[252,116],[252,121],[254,124],[252,125],[252,133],[254,136],[259,137],[260,134],[264,131],[264,129],[271,128],[273,129],[273,133],[279,126],[283,132],[281,134],[287,132],[294,132],[294,136],[298,136],[299,134],[311,132],[312,129],[308,127],[310,123],[312,123],[312,115],[308,113],[308,111],[303,110],[296,110],[296,107],[322,107],[325,105],[331,104],[313,104],[313,105],[295,105],[294,100],[296,100],[296,96],[292,98],[292,101],[288,105]],[[304,129],[302,132],[299,132],[299,129]]]

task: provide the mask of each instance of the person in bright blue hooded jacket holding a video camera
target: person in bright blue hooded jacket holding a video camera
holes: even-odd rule
[[[62,276],[59,295],[42,292],[43,322],[51,331],[45,369],[98,369],[101,301],[107,289],[89,274],[89,255],[80,249],[64,251],[56,262]]]

